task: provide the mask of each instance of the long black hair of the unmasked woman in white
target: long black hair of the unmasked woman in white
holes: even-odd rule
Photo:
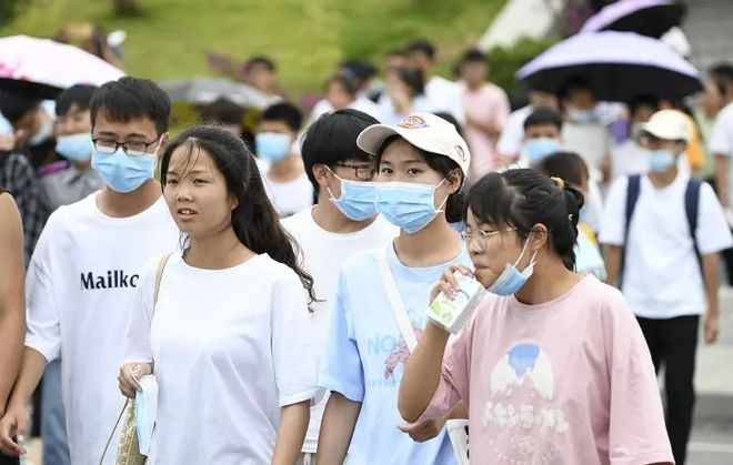
[[[227,190],[237,198],[232,210],[232,229],[237,239],[254,253],[267,253],[273,260],[292,269],[315,302],[313,277],[299,264],[302,256],[295,240],[280,225],[278,213],[264,191],[260,170],[244,142],[219,128],[197,127],[181,133],[165,149],[161,160],[161,184],[165,185],[168,165],[173,152],[188,145],[205,151],[227,180]]]

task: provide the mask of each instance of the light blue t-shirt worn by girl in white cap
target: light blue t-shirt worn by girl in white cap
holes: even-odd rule
[[[386,249],[386,250],[385,250]],[[390,269],[415,335],[425,327],[430,291],[448,266],[472,266],[468,253],[430,267],[408,267],[392,243],[348,260],[339,286],[319,385],[361,402],[349,446],[349,465],[453,465],[455,458],[445,429],[425,443],[415,443],[398,429],[398,392],[409,351],[394,320],[376,264],[386,253]]]

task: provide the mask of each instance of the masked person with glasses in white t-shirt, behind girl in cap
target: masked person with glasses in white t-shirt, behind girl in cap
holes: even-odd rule
[[[376,215],[369,183],[376,166],[373,156],[357,146],[359,133],[378,121],[358,110],[321,117],[305,133],[303,162],[318,192],[317,204],[283,221],[304,255],[315,295],[311,314],[313,341],[325,341],[341,264],[355,253],[388,243],[399,230]],[[363,189],[366,188],[366,189]],[[375,191],[371,191],[374,193]],[[319,347],[322,353],[324,347]],[[311,408],[302,464],[315,463],[319,429],[328,396]]]

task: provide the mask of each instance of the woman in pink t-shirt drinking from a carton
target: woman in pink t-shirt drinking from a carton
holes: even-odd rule
[[[531,170],[482,178],[464,237],[490,292],[469,325],[429,324],[408,361],[399,407],[409,422],[469,407],[479,464],[672,464],[654,366],[619,291],[575,274],[582,195]],[[448,347],[446,347],[448,345]]]

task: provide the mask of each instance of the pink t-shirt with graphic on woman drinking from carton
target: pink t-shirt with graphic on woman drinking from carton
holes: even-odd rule
[[[542,305],[488,294],[449,344],[421,421],[461,400],[472,463],[674,463],[639,324],[593,276]]]

